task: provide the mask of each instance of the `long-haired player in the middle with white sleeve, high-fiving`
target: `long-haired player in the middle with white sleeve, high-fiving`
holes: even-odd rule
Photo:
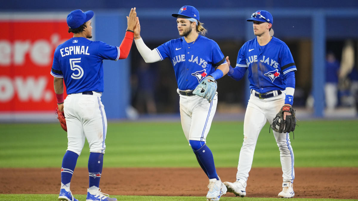
[[[214,81],[227,74],[228,65],[218,44],[203,36],[207,30],[200,23],[196,8],[183,6],[172,16],[176,18],[181,38],[170,40],[151,50],[140,36],[140,24],[137,20],[135,44],[146,63],[165,58],[171,60],[178,83],[180,118],[185,137],[200,167],[209,177],[207,200],[219,200],[227,190],[216,173],[212,152],[205,143],[216,111],[217,93],[208,102],[207,99],[194,95],[193,90],[207,77]]]

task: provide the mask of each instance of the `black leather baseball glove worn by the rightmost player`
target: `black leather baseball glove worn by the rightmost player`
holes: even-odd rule
[[[284,112],[289,112],[291,115],[286,116],[284,120]],[[276,117],[273,119],[271,128],[278,133],[289,133],[294,131],[296,127],[296,112],[290,106],[283,106]]]

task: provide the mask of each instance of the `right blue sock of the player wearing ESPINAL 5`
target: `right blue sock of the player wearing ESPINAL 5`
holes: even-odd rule
[[[103,167],[103,153],[91,152],[88,158],[89,187],[100,187],[100,179]]]

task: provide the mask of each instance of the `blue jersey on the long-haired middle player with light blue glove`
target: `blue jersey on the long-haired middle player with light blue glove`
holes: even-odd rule
[[[194,90],[204,77],[215,71],[215,67],[227,63],[219,45],[202,35],[191,43],[184,37],[173,39],[155,50],[161,60],[171,60],[180,90]]]

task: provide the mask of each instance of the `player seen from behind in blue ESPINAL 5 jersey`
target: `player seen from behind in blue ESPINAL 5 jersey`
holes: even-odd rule
[[[71,11],[67,15],[68,32],[73,38],[59,45],[54,52],[51,74],[60,111],[67,123],[68,147],[61,168],[61,189],[58,200],[78,201],[70,191],[71,177],[81,154],[84,139],[89,144],[89,188],[86,201],[116,201],[99,189],[105,153],[107,119],[101,102],[103,92],[103,59],[125,59],[129,54],[136,26],[136,8],[127,17],[125,37],[118,46],[91,41],[93,11]],[[63,100],[63,81],[67,97]]]

